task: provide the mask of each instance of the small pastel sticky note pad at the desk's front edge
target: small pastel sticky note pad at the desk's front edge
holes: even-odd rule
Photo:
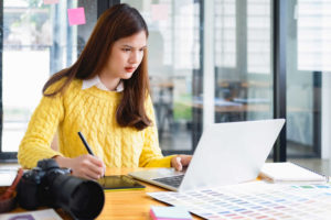
[[[152,220],[191,220],[192,216],[183,207],[158,207],[150,208]]]

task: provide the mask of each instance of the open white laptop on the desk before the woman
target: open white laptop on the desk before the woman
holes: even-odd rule
[[[185,172],[151,168],[129,175],[175,191],[253,180],[284,123],[284,119],[271,119],[211,124],[203,132]]]

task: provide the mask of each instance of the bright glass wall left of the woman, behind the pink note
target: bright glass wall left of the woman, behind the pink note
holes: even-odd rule
[[[2,3],[2,2],[1,2]],[[84,6],[86,24],[70,26],[67,9]],[[17,152],[47,78],[75,62],[97,20],[96,1],[3,1],[2,152]]]

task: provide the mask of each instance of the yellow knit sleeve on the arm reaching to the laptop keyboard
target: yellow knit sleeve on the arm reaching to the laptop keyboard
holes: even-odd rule
[[[156,124],[156,117],[151,98],[148,96],[146,111],[152,125],[145,130],[145,143],[140,154],[139,166],[142,167],[171,167],[171,158],[173,156],[163,157],[159,146],[158,128]]]

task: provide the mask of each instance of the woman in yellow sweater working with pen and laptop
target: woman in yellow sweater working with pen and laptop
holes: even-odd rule
[[[139,12],[117,4],[102,14],[76,63],[43,88],[18,154],[22,166],[55,158],[73,175],[97,179],[105,167],[175,167],[191,156],[163,157],[147,74],[148,29]],[[87,154],[81,131],[96,156]],[[51,142],[58,133],[58,152]]]

